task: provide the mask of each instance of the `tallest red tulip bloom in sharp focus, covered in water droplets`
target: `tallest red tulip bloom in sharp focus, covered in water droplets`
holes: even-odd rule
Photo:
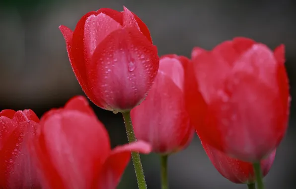
[[[85,14],[73,31],[61,25],[75,76],[101,108],[130,110],[147,95],[159,66],[145,23],[124,7]]]

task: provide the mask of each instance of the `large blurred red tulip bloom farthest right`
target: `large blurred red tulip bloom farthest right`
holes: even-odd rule
[[[247,162],[275,150],[289,115],[284,46],[272,52],[251,39],[234,38],[212,51],[195,48],[192,59],[186,104],[201,140]]]

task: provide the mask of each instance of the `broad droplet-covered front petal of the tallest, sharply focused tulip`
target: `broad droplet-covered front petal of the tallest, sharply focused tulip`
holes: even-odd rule
[[[150,89],[158,66],[156,47],[139,30],[116,30],[98,45],[87,68],[92,93],[115,109],[131,109]]]

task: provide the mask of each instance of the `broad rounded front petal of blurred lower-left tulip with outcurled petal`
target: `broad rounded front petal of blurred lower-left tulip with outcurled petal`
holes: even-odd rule
[[[103,124],[75,110],[58,111],[48,117],[39,141],[33,144],[33,152],[49,188],[89,188],[111,151]],[[44,154],[48,162],[41,159]]]

